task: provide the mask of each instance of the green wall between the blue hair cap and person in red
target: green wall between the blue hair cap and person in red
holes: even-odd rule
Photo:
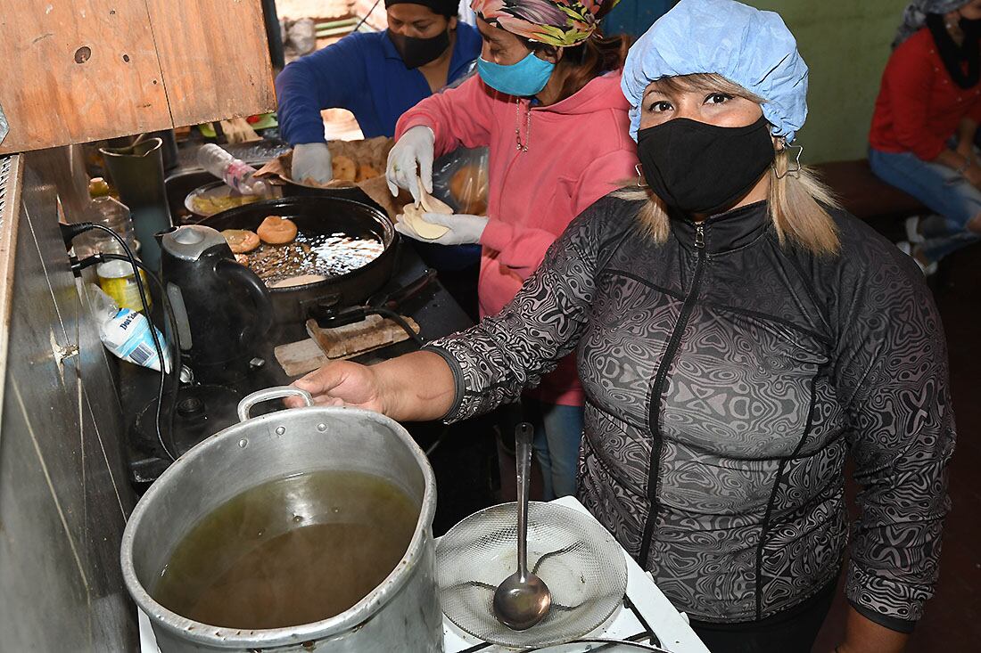
[[[778,12],[810,68],[810,114],[800,131],[803,159],[865,157],[879,80],[902,17],[903,0],[749,0]]]

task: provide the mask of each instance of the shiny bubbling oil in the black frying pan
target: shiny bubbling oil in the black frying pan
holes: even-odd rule
[[[296,234],[285,245],[262,243],[246,265],[267,285],[303,275],[339,276],[374,261],[385,250],[380,238],[336,233]]]

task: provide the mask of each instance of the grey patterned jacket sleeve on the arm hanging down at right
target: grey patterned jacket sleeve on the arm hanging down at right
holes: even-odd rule
[[[939,575],[955,426],[943,326],[923,277],[880,239],[839,306],[838,391],[851,418],[860,516],[846,595],[866,618],[909,631]],[[891,251],[890,251],[891,250]]]

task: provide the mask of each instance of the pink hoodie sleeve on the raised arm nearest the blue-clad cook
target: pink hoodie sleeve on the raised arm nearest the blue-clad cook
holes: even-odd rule
[[[436,134],[436,155],[464,147],[490,145],[492,107],[497,93],[478,75],[456,88],[447,88],[422,100],[402,114],[395,126],[395,140],[414,126],[428,126]]]

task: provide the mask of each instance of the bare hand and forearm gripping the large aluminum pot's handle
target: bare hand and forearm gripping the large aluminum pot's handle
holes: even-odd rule
[[[328,363],[293,381],[322,406],[364,408],[405,422],[439,420],[456,397],[456,379],[446,361],[431,351],[416,351],[364,366],[349,361]],[[288,408],[303,400],[290,397]]]

